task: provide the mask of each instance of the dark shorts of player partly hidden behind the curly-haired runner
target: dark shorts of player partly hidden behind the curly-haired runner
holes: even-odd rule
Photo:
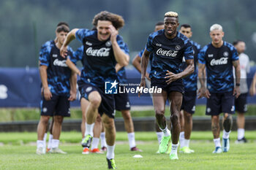
[[[130,103],[129,103],[129,96],[127,93],[118,93],[114,95],[115,97],[115,105],[116,110],[129,110],[131,109]]]

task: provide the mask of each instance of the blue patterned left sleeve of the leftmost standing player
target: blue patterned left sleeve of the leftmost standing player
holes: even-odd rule
[[[40,66],[49,66],[50,63],[50,50],[52,45],[50,42],[45,42],[39,51]]]

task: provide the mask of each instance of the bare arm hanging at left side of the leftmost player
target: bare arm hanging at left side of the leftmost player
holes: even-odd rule
[[[52,97],[52,93],[50,93],[50,89],[48,87],[47,68],[47,66],[40,66],[39,73],[42,81],[43,95],[45,97],[45,100],[49,101]]]

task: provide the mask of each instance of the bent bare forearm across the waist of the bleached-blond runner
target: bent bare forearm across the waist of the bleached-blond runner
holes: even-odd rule
[[[189,74],[192,74],[194,72],[194,59],[189,59],[189,60],[186,60],[186,63],[187,63],[187,68],[184,69],[183,72],[180,72],[178,74],[174,74],[173,72],[170,72],[167,70],[167,73],[166,73],[166,77],[165,79],[167,84],[169,85],[170,82],[174,82],[178,79],[182,79],[184,77],[187,77]]]

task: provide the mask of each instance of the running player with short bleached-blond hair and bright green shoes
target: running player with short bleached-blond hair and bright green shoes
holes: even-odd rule
[[[164,153],[167,150],[170,140],[170,131],[167,129],[165,119],[165,103],[170,103],[170,121],[172,127],[172,148],[170,159],[178,159],[178,136],[180,134],[179,112],[181,109],[184,85],[182,78],[194,72],[194,60],[192,45],[189,39],[177,31],[178,13],[166,12],[165,29],[150,34],[146,49],[141,58],[141,82],[140,87],[146,86],[146,68],[148,65],[149,55],[152,53],[151,87],[162,88],[162,93],[153,94],[154,110],[159,128],[164,136],[159,145],[159,152]],[[185,58],[187,68],[182,72],[180,65],[182,58]],[[140,94],[139,94],[140,95]]]

